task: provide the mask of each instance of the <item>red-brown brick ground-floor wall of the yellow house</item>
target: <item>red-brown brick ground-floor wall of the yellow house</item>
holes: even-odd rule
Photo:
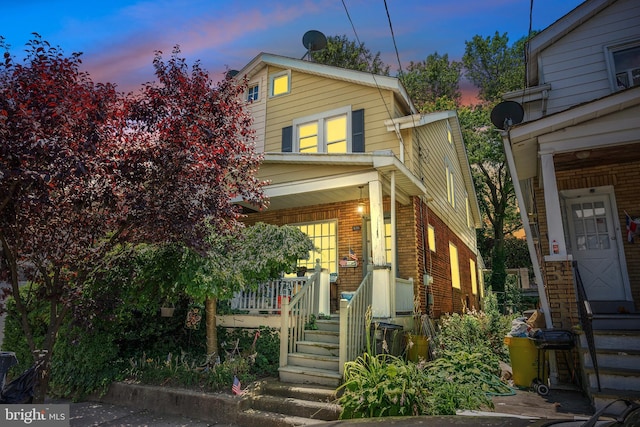
[[[367,201],[365,200],[365,203]],[[390,200],[384,200],[385,212],[390,211]],[[422,236],[422,222],[418,221],[422,215],[425,224],[430,223],[435,228],[436,252],[426,250],[427,230]],[[281,209],[262,213],[249,214],[245,219],[248,225],[258,221],[284,225],[315,221],[336,220],[338,224],[338,255],[339,258],[349,253],[349,247],[354,250],[362,261],[363,233],[365,223],[361,214],[357,212],[356,202],[341,202],[325,205],[306,206],[293,209]],[[418,198],[414,198],[410,205],[396,206],[398,277],[414,279],[414,293],[420,297],[423,312],[427,312],[427,296],[422,283],[423,272],[429,272],[433,277],[434,306],[431,315],[439,317],[443,313],[462,312],[467,308],[478,308],[477,295],[471,292],[471,272],[469,259],[476,260],[475,255],[438,217],[429,213],[426,205]],[[358,227],[360,229],[358,229]],[[451,286],[451,268],[449,265],[449,242],[458,248],[460,267],[460,281],[462,289]],[[425,269],[425,266],[427,267]],[[363,278],[363,264],[357,268],[338,268],[337,295],[344,291],[354,291]],[[478,283],[480,283],[478,281]]]

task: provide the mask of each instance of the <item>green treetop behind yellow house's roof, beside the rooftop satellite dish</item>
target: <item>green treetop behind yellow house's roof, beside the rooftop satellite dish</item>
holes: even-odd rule
[[[389,75],[389,66],[380,59],[380,52],[374,55],[364,43],[349,40],[346,35],[327,37],[327,47],[312,52],[311,57],[315,62],[325,65]]]

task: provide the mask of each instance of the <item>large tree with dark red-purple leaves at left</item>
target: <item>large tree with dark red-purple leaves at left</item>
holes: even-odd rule
[[[83,285],[108,268],[107,251],[178,242],[204,253],[205,220],[219,230],[237,227],[235,197],[265,206],[255,177],[261,158],[242,85],[214,84],[178,48],[167,63],[156,54],[158,83],[136,96],[94,84],[79,70],[80,54],[66,57],[37,34],[23,63],[2,38],[0,49],[0,264],[27,343],[46,350],[48,366]],[[50,306],[41,345],[27,321],[34,299]]]

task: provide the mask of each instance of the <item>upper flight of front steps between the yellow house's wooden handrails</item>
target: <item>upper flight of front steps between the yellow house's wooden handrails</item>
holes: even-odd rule
[[[280,381],[337,388],[339,372],[339,319],[316,320],[318,329],[307,329],[295,352],[289,353],[287,366],[279,368]]]

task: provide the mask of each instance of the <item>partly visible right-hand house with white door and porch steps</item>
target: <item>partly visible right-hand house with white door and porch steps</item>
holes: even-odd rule
[[[504,99],[523,107],[503,139],[547,327],[582,330],[597,407],[640,398],[640,3],[588,0],[537,34]]]

